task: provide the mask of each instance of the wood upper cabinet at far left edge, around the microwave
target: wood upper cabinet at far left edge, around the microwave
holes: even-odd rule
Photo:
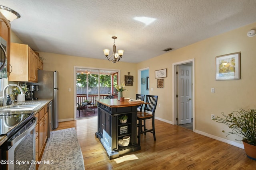
[[[6,67],[7,67],[7,76],[10,73],[10,30],[11,25],[10,22],[2,15],[0,12],[0,37],[2,37],[6,41]],[[3,70],[6,72],[5,70]]]

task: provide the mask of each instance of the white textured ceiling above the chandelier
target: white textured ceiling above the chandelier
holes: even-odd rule
[[[256,0],[0,0],[12,31],[35,51],[138,63],[256,22]],[[155,18],[146,25],[135,17]],[[249,31],[249,30],[248,30]],[[246,36],[246,35],[245,35]]]

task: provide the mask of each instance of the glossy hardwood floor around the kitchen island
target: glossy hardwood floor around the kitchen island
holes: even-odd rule
[[[156,141],[141,137],[141,150],[109,160],[95,137],[97,117],[60,122],[59,129],[75,127],[86,170],[255,170],[256,161],[243,149],[155,120]]]

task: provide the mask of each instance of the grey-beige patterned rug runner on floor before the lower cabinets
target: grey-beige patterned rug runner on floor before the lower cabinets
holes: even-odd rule
[[[84,170],[84,158],[76,129],[51,131],[39,170]]]

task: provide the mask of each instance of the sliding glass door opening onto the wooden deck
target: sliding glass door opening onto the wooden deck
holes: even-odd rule
[[[75,119],[86,117],[82,102],[96,104],[96,100],[106,96],[117,98],[114,86],[118,82],[118,73],[118,70],[76,68],[76,107],[80,109],[76,109]]]

